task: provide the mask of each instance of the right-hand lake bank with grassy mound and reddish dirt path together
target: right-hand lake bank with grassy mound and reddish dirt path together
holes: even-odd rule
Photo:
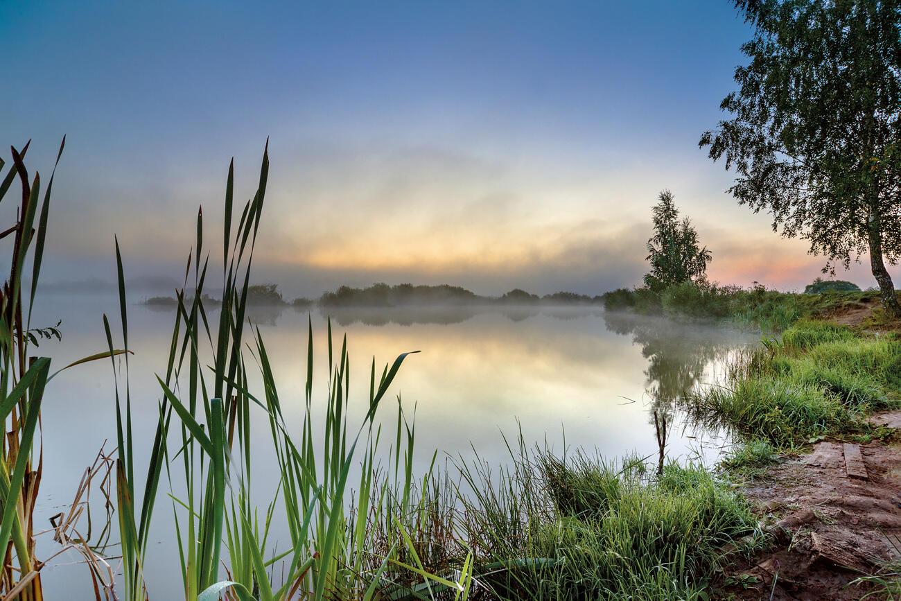
[[[857,303],[797,321],[687,399],[743,442],[722,469],[769,535],[715,598],[901,598],[901,338]]]

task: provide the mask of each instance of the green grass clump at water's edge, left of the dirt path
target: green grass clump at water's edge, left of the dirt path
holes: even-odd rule
[[[694,465],[671,463],[656,478],[637,460],[617,466],[542,454],[534,478],[511,491],[472,508],[522,520],[506,530],[529,533],[520,544],[487,545],[491,560],[519,567],[491,578],[505,599],[706,598],[707,578],[727,560],[724,545],[757,524],[742,496]],[[521,498],[550,505],[514,517],[508,504]]]

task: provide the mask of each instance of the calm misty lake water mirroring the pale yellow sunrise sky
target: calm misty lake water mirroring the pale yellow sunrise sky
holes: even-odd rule
[[[44,342],[40,348],[57,368],[105,350],[102,314],[118,323],[115,298],[45,296],[42,303],[32,325],[63,321],[63,341]],[[299,423],[303,408],[307,315],[291,308],[252,315],[266,340],[289,423]],[[130,360],[132,404],[135,435],[141,440],[149,441],[155,429],[159,388],[154,374],[166,369],[173,318],[170,311],[129,307],[130,347],[135,353]],[[312,319],[315,402],[326,396],[328,367],[325,318],[314,308]],[[400,352],[422,351],[405,361],[388,397],[393,404],[393,396],[400,395],[405,411],[415,412],[421,468],[435,449],[471,460],[474,447],[482,460],[505,462],[501,433],[515,436],[518,428],[527,441],[546,442],[557,451],[565,445],[610,458],[633,452],[656,457],[654,408],[666,408],[687,389],[713,382],[730,351],[757,340],[730,329],[572,307],[345,310],[332,313],[332,327],[336,338],[344,332],[348,336],[351,423],[359,423],[365,413],[372,357],[378,365]],[[382,414],[391,433],[395,415],[390,405]],[[673,418],[669,457],[714,460],[724,444],[722,437],[693,431],[678,413]],[[108,440],[107,450],[114,446],[110,362],[79,366],[54,379],[44,403],[43,427],[40,520],[71,501],[101,444]],[[265,467],[270,443],[262,415],[257,435],[262,460],[254,488],[259,489],[258,503],[265,505],[277,475]],[[144,465],[139,460],[136,470],[140,473]],[[95,497],[92,505],[98,513],[102,500]],[[151,546],[148,566],[151,598],[179,598],[168,499],[160,499],[155,515],[156,545]],[[46,556],[53,543],[42,542],[41,547]],[[69,565],[75,561],[74,555],[63,556],[59,565],[44,570],[48,598],[93,598],[86,569]]]

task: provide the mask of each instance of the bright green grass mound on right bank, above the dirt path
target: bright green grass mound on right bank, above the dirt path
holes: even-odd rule
[[[799,320],[744,358],[728,385],[701,391],[688,405],[702,420],[780,449],[826,436],[869,437],[867,414],[899,405],[899,361],[894,336]]]

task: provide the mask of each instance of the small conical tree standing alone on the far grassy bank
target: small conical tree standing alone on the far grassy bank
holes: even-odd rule
[[[645,286],[655,291],[704,278],[711,260],[710,250],[700,248],[691,220],[679,220],[672,192],[664,190],[658,199],[653,208],[654,235],[648,241],[651,273],[644,277]]]

